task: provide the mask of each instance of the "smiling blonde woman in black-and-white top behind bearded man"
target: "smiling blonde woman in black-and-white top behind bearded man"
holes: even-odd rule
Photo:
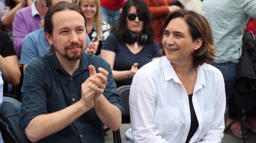
[[[99,0],[79,0],[77,5],[83,10],[87,21],[87,33],[96,49],[95,54],[100,54],[101,46],[109,35],[110,25],[101,20],[101,9]],[[89,46],[93,46],[89,44]],[[90,49],[90,47],[89,47]]]

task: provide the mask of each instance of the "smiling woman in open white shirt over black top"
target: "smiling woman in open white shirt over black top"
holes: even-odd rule
[[[208,64],[215,59],[210,25],[177,10],[163,31],[164,56],[140,68],[130,88],[128,140],[221,142],[226,97],[221,71]]]

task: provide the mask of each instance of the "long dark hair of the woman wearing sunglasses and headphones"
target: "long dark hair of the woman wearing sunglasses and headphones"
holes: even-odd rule
[[[113,33],[116,35],[119,43],[125,42],[125,34],[129,31],[127,28],[126,17],[128,15],[130,7],[136,7],[137,15],[143,17],[143,30],[142,33],[148,34],[148,43],[153,42],[153,29],[151,27],[150,13],[148,11],[147,5],[142,0],[128,0],[126,4],[122,7],[122,12],[120,14],[119,20],[114,23]]]

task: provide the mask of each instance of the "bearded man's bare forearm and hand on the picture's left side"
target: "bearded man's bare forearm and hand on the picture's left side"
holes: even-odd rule
[[[90,78],[92,77],[90,76]],[[58,112],[38,115],[30,121],[25,128],[25,134],[30,141],[36,142],[43,137],[60,131],[79,118],[83,113],[93,108],[95,92],[88,88],[88,85],[92,84],[90,78],[82,84],[82,97],[77,103]]]

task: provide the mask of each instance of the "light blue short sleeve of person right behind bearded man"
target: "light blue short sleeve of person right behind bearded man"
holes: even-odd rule
[[[25,65],[33,62],[33,60],[38,58],[38,54],[36,52],[37,47],[35,43],[35,39],[33,39],[32,35],[28,34],[25,36],[22,45],[22,51],[20,54],[20,64]]]

